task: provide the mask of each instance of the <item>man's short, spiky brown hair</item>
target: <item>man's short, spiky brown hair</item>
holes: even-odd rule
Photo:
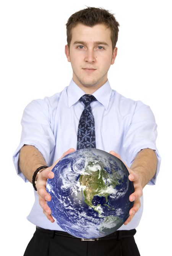
[[[118,40],[119,23],[113,13],[103,8],[95,7],[87,7],[86,9],[73,13],[66,24],[68,47],[70,47],[71,42],[71,30],[78,23],[91,27],[97,24],[106,25],[111,30],[112,48],[114,50]]]

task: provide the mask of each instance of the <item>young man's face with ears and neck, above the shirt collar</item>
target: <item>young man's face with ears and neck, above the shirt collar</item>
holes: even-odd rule
[[[66,45],[65,54],[71,62],[73,81],[83,91],[96,91],[107,81],[107,72],[117,55],[110,34],[110,28],[103,24],[89,27],[79,23],[72,29],[70,49]]]

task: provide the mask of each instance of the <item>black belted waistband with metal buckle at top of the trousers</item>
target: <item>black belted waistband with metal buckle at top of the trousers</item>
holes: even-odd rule
[[[133,229],[133,230],[117,230],[114,233],[107,235],[107,236],[94,238],[94,239],[84,239],[84,238],[78,238],[76,236],[70,235],[67,232],[58,231],[58,230],[47,230],[44,228],[40,228],[38,226],[36,226],[36,230],[48,233],[48,234],[50,234],[50,237],[52,237],[52,238],[54,238],[54,236],[65,236],[65,237],[72,238],[72,239],[80,239],[81,241],[98,241],[98,240],[109,240],[109,239],[121,240],[122,238],[128,238],[128,237],[134,236],[136,233],[135,229]]]

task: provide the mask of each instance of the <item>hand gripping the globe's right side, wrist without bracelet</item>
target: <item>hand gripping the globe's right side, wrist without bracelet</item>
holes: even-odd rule
[[[118,157],[120,160],[122,160],[120,155],[115,153],[114,151],[110,151],[109,153],[114,155],[115,157]],[[123,162],[123,163],[125,164],[125,162]],[[141,206],[140,197],[143,195],[143,188],[141,186],[141,179],[140,179],[139,175],[137,173],[135,173],[133,170],[131,170],[130,168],[128,168],[128,166],[126,164],[125,164],[125,166],[127,167],[128,172],[130,173],[128,178],[130,181],[133,182],[133,185],[135,188],[135,192],[132,193],[129,197],[129,200],[131,202],[134,201],[134,204],[133,204],[133,207],[129,211],[130,216],[124,222],[124,225],[127,225],[132,220],[132,218],[135,216],[135,213],[139,210],[139,208]]]

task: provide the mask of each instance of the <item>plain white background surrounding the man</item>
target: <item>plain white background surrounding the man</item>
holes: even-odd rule
[[[120,23],[118,55],[110,67],[113,89],[141,100],[158,124],[162,164],[156,186],[144,188],[144,212],[135,240],[141,256],[171,255],[171,8],[170,0],[0,1],[1,238],[0,255],[22,256],[35,226],[26,220],[34,202],[31,183],[15,173],[21,117],[32,100],[68,86],[67,19],[74,12],[104,7]],[[1,236],[2,237],[2,236]]]

